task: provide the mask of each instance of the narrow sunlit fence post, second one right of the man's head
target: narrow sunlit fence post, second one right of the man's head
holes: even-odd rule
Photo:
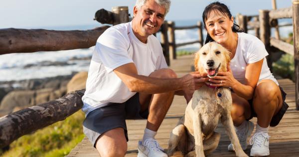
[[[169,32],[169,59],[176,59],[176,47],[175,47],[175,35],[174,35],[174,22],[168,21],[168,32]]]

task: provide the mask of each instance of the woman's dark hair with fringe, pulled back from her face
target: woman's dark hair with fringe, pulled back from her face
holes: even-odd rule
[[[218,13],[220,15],[225,15],[225,16],[228,16],[229,18],[232,18],[232,14],[231,14],[230,10],[228,9],[228,7],[224,3],[215,1],[215,2],[210,3],[208,6],[206,6],[202,13],[202,20],[203,20],[203,24],[205,27],[206,27],[205,21],[207,20],[208,16],[210,15],[210,13],[212,11],[215,11],[216,13]],[[232,31],[233,32],[243,32],[244,30],[241,29],[240,26],[234,22]],[[214,40],[209,35],[209,33],[207,33],[205,44],[208,42],[211,42],[211,41],[214,41]]]

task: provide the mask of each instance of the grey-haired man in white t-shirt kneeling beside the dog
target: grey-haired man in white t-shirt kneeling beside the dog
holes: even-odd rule
[[[82,100],[84,134],[101,157],[124,157],[126,119],[148,119],[138,157],[167,157],[154,136],[174,93],[189,101],[206,75],[190,73],[176,78],[167,69],[157,32],[169,10],[169,0],[137,0],[132,22],[107,29],[93,52]]]

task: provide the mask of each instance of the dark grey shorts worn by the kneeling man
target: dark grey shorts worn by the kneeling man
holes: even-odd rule
[[[148,119],[149,110],[141,113],[140,109],[139,93],[124,103],[108,103],[87,115],[83,122],[83,132],[94,147],[101,134],[115,128],[124,128],[129,141],[126,119]]]

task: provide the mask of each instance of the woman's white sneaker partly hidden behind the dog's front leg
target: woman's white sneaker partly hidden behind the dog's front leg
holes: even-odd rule
[[[247,125],[243,130],[236,131],[240,145],[242,149],[245,151],[247,149],[247,137],[249,137],[254,129],[254,124],[248,121]],[[235,151],[234,145],[228,145],[228,151]]]

